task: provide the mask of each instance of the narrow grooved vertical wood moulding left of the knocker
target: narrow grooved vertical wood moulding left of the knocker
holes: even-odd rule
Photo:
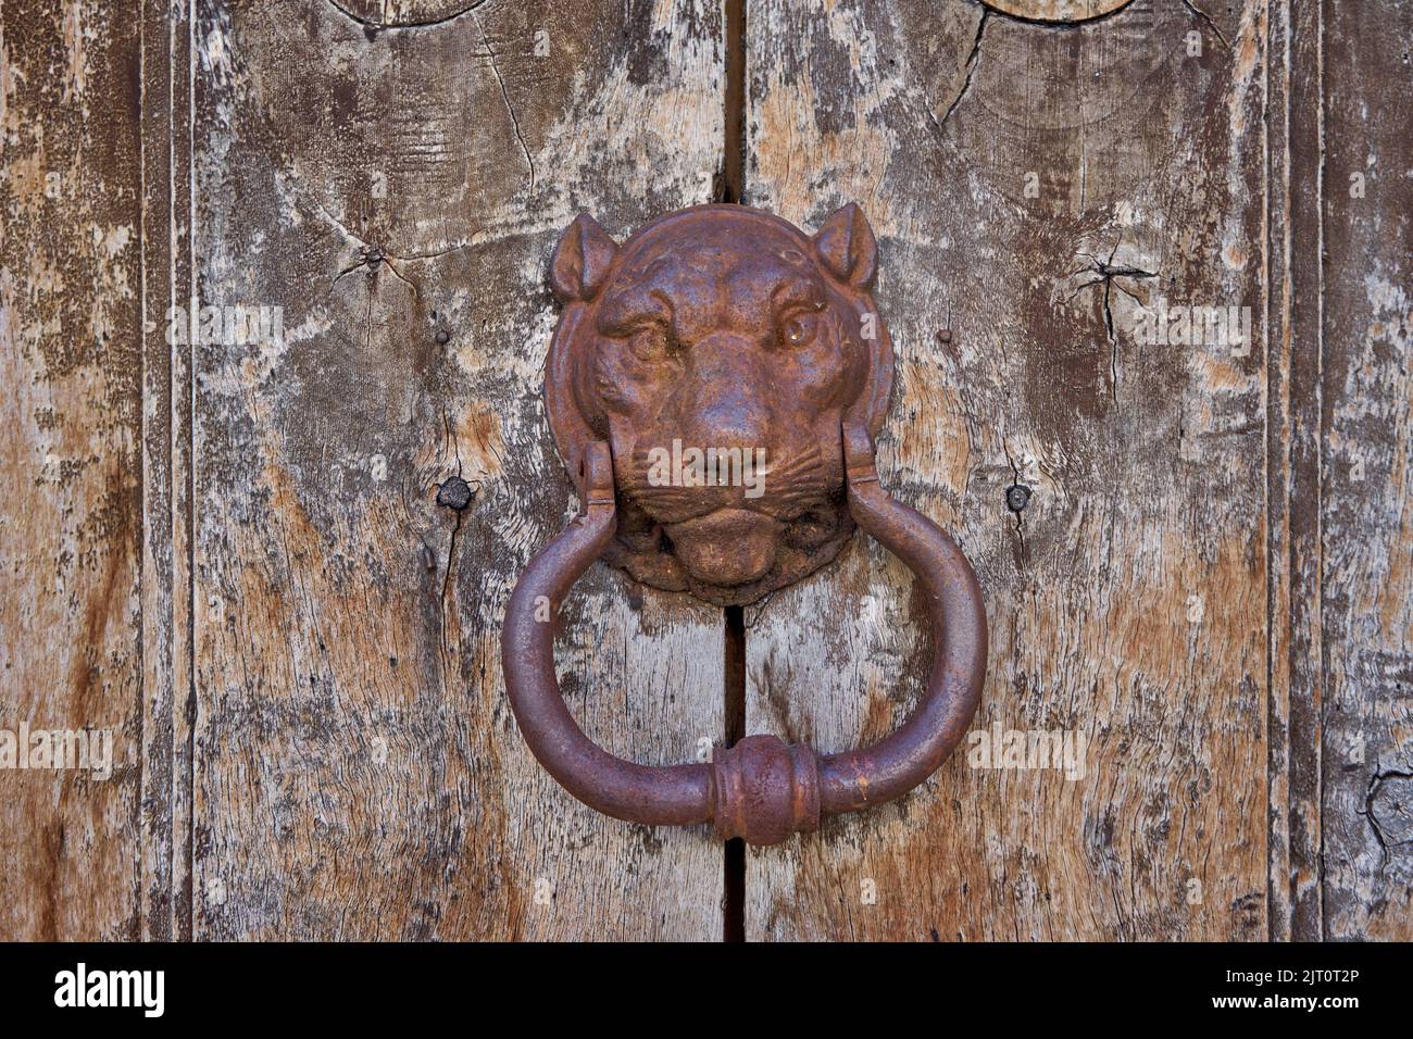
[[[191,21],[141,11],[143,810],[141,936],[191,937]]]

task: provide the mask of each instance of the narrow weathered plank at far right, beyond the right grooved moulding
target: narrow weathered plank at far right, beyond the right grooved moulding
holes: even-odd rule
[[[1413,10],[1324,27],[1324,936],[1413,939]]]

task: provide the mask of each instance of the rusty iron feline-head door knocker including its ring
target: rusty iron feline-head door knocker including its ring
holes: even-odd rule
[[[852,204],[814,237],[759,209],[705,205],[622,246],[588,215],[560,239],[551,283],[564,311],[545,390],[584,512],[516,585],[502,663],[530,749],[599,811],[774,844],[821,813],[901,796],[975,714],[986,662],[976,578],[947,534],[889,498],[873,464],[893,382],[869,294],[876,262]],[[711,763],[670,766],[622,761],[584,735],[560,695],[543,604],[557,608],[596,558],[643,584],[746,604],[827,564],[855,523],[909,565],[930,609],[927,690],[901,728],[827,756],[756,735]]]

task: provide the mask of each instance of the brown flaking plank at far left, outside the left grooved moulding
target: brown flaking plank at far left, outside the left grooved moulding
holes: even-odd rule
[[[137,64],[122,4],[0,7],[0,738],[112,739],[0,753],[7,940],[138,930]]]

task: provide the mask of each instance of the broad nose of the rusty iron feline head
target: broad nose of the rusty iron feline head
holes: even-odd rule
[[[764,447],[770,434],[769,387],[749,339],[709,335],[691,351],[691,375],[678,404],[684,438],[699,447]]]

